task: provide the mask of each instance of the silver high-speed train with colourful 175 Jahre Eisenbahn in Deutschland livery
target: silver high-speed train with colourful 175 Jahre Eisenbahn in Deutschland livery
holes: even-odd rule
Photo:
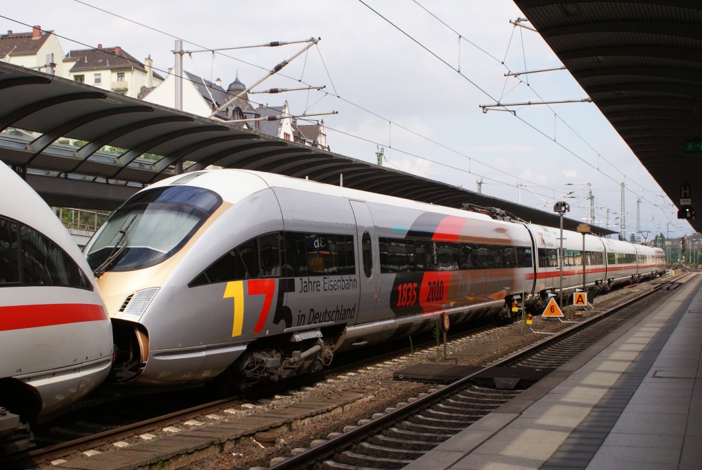
[[[136,193],[84,253],[112,317],[112,378],[255,384],[333,354],[512,315],[559,286],[559,230],[243,170]],[[660,249],[564,232],[564,289],[663,273]],[[524,292],[524,298],[522,293]],[[543,307],[542,307],[543,308]]]

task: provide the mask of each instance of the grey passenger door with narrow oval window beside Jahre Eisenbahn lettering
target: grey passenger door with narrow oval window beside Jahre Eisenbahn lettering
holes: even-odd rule
[[[373,217],[368,205],[362,201],[350,200],[351,209],[356,218],[356,230],[358,242],[356,253],[359,261],[359,303],[356,324],[369,323],[375,320],[380,292],[378,289],[378,277],[380,266],[378,265],[378,244],[376,240],[376,230],[373,226]]]

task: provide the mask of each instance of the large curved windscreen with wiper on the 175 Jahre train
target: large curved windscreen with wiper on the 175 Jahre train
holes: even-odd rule
[[[86,245],[88,264],[98,277],[154,266],[178,252],[220,204],[216,193],[194,186],[139,192]]]

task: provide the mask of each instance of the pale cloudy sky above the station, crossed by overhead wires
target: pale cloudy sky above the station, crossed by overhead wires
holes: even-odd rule
[[[324,90],[250,98],[288,100],[293,115],[337,111],[313,118],[333,152],[376,162],[383,148],[388,167],[469,190],[482,180],[486,195],[546,211],[564,200],[575,220],[587,221],[592,191],[595,225],[612,230],[625,183],[627,238],[637,199],[647,240],[694,232],[595,105],[511,105],[587,98],[567,70],[505,77],[562,66],[538,33],[510,23],[524,18],[512,0],[34,0],[0,16],[0,31],[53,30],[66,53],[102,44],[151,56],[161,75],[176,38],[186,51],[321,38],[256,89]],[[237,75],[250,86],[304,46],[190,53],[183,64],[225,88]],[[513,112],[482,112],[498,101]]]

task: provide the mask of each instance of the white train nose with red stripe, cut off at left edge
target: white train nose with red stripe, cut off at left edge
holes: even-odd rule
[[[112,325],[53,211],[1,162],[0,181],[1,448],[22,422],[65,410],[107,377]]]

